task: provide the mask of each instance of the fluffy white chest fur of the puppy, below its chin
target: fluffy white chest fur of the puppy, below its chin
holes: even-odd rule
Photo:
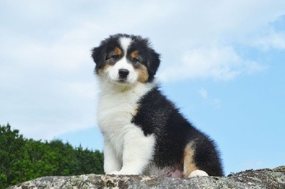
[[[138,102],[152,86],[138,85],[126,92],[108,92],[99,95],[98,123],[104,140],[110,142],[120,156],[123,151],[125,135],[132,129],[138,129],[131,123],[138,110]]]

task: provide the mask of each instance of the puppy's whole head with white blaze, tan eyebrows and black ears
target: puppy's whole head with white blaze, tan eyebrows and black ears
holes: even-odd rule
[[[117,85],[151,82],[160,65],[160,55],[140,36],[117,34],[93,48],[95,72]]]

